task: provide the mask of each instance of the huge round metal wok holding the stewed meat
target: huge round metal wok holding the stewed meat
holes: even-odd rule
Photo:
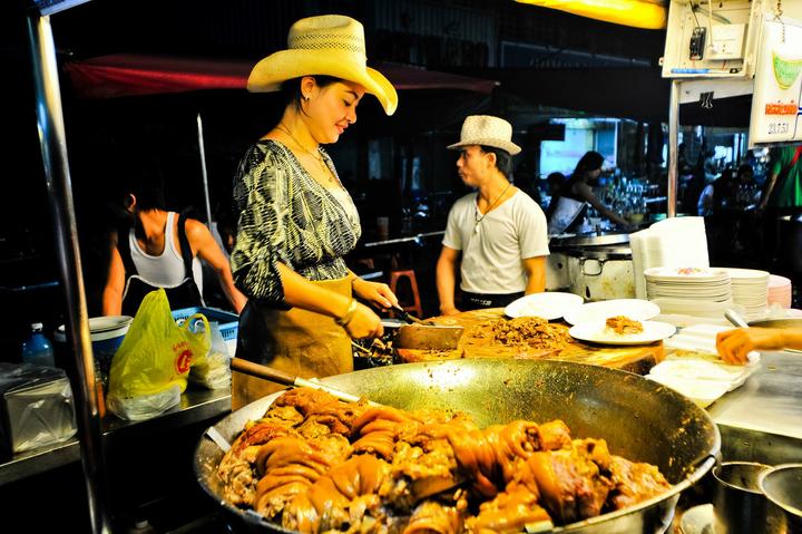
[[[659,467],[673,488],[658,498],[555,528],[570,533],[658,533],[673,517],[679,493],[715,463],[721,438],[691,400],[640,376],[563,361],[453,360],[382,367],[322,380],[327,386],[407,409],[463,411],[480,426],[518,418],[560,418],[575,437],[605,438],[612,453]],[[260,418],[275,396],[233,412],[214,426],[229,441]],[[288,532],[223,501],[215,469],[223,450],[202,438],[195,472],[203,488],[247,532]]]

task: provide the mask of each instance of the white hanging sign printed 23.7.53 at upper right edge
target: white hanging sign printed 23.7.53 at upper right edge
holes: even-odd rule
[[[750,143],[802,140],[801,103],[802,26],[789,19],[783,23],[765,20],[755,68]]]

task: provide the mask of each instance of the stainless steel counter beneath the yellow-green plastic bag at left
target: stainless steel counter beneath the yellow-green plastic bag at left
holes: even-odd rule
[[[125,421],[113,415],[104,419],[104,440],[125,439],[133,433],[143,436],[164,428],[178,428],[231,412],[229,389],[187,389],[180,404],[158,417],[143,421]],[[13,456],[0,464],[0,485],[37,475],[80,459],[77,438],[47,447],[40,447]]]

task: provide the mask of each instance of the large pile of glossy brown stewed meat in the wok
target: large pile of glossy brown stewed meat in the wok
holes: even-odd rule
[[[225,498],[303,533],[491,533],[564,525],[671,487],[560,420],[478,428],[443,411],[278,397],[221,462]]]

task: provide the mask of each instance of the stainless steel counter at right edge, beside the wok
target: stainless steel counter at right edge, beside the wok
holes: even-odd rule
[[[802,460],[802,355],[764,352],[754,375],[707,411],[725,460]]]

